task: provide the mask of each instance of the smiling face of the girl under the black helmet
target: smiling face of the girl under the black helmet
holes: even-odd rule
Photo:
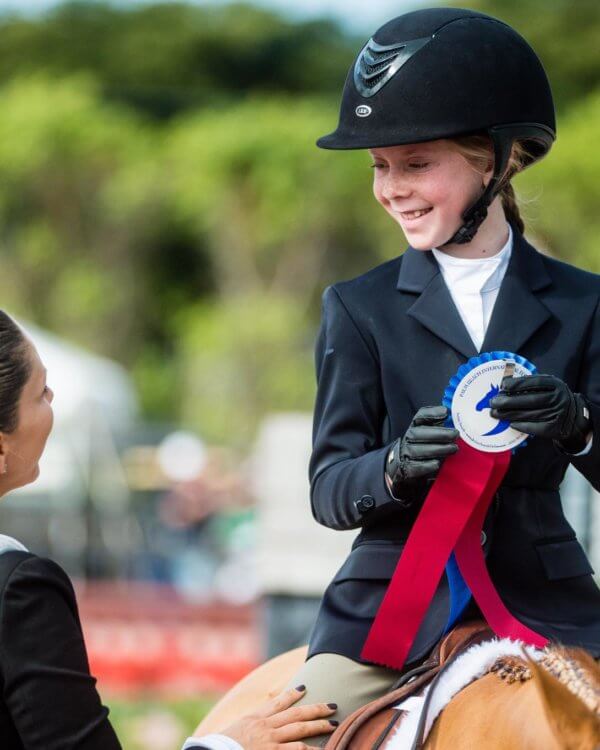
[[[417,250],[439,247],[492,176],[475,170],[450,141],[372,148],[375,198]]]

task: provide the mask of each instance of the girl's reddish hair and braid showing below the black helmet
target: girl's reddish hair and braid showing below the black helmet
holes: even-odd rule
[[[471,164],[471,166],[478,172],[483,174],[489,169],[490,159],[493,159],[492,141],[488,135],[466,135],[452,138],[451,141],[454,143],[459,153]],[[508,167],[501,181],[501,188],[499,191],[500,200],[502,201],[502,208],[506,218],[511,224],[514,224],[519,232],[523,234],[525,231],[525,223],[521,218],[519,212],[519,205],[515,196],[513,186],[510,184],[512,178],[520,172],[527,164],[528,153],[524,146],[515,141],[513,143],[510,158],[508,160]]]

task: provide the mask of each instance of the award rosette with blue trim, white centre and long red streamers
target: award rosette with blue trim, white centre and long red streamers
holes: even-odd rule
[[[361,658],[402,669],[419,626],[450,560],[488,624],[500,638],[541,648],[547,639],[505,607],[489,576],[481,540],[490,503],[527,435],[494,419],[490,400],[505,375],[527,377],[531,362],[511,352],[473,357],[454,375],[443,397],[448,424],[459,432],[458,451],[448,456],[406,541]]]

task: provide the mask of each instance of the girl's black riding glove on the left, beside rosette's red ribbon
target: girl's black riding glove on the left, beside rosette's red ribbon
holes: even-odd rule
[[[386,461],[388,486],[393,496],[410,505],[423,496],[446,456],[456,453],[458,430],[444,427],[445,406],[424,406],[415,414],[404,437],[398,438]]]

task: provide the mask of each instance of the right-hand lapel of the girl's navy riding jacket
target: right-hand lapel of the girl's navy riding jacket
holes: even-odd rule
[[[513,227],[514,230],[514,227]],[[513,251],[481,350],[519,349],[552,317],[535,295],[552,283],[540,253],[514,230]]]

